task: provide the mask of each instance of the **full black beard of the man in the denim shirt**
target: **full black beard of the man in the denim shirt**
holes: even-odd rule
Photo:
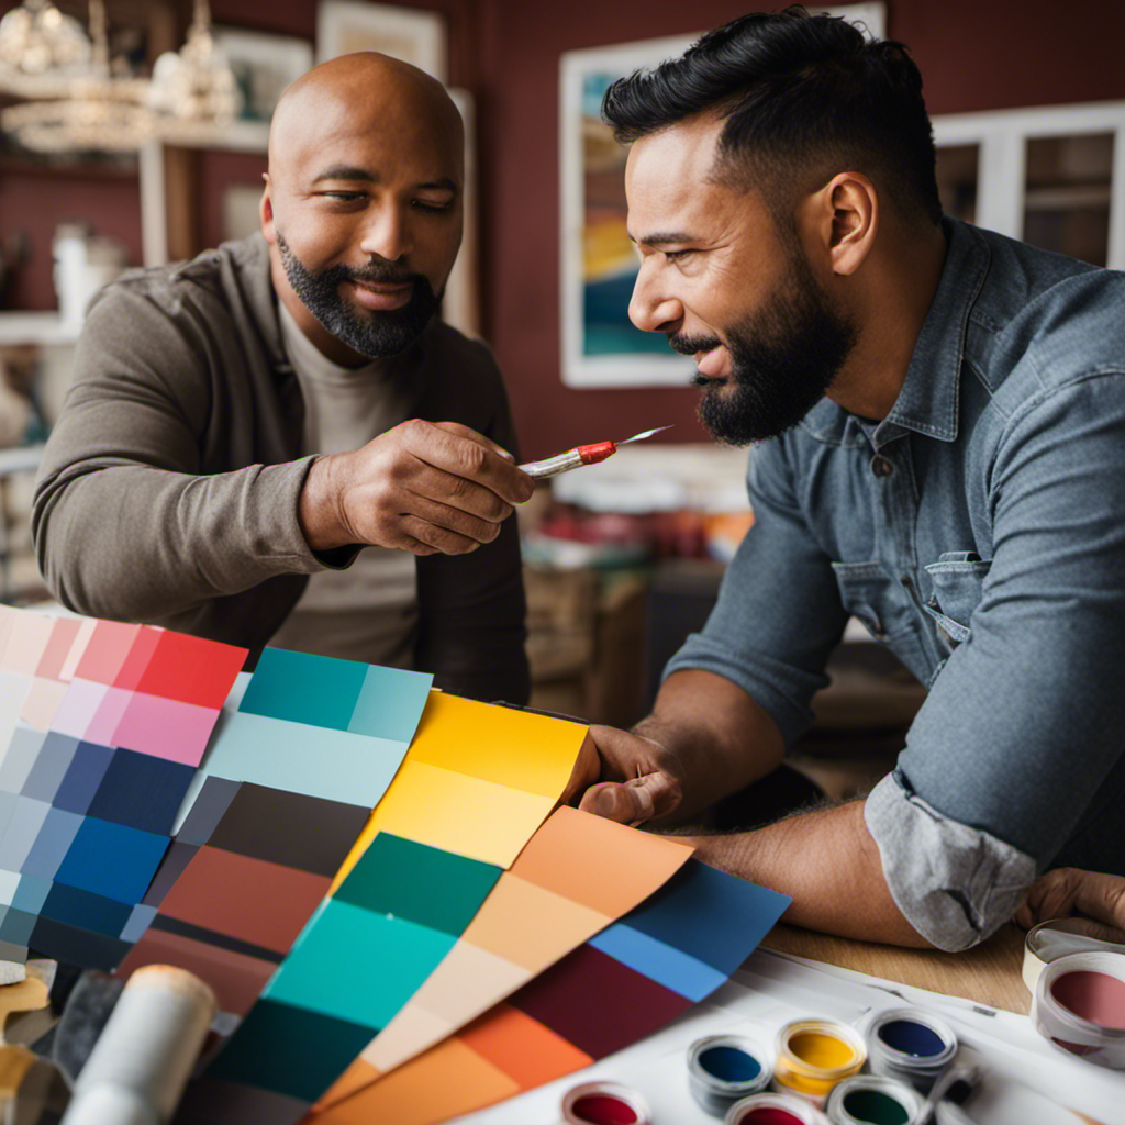
[[[788,256],[790,270],[766,305],[727,333],[734,385],[711,385],[702,375],[694,379],[704,388],[700,421],[728,446],[793,429],[825,397],[855,346],[855,325],[829,305],[800,250],[789,248]],[[695,354],[722,341],[674,336],[669,343]]]

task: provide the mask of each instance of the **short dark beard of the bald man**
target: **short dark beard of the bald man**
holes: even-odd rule
[[[441,305],[441,294],[434,294],[430,280],[421,273],[411,273],[390,263],[375,263],[362,268],[330,266],[313,273],[279,233],[278,253],[286,277],[300,303],[317,322],[352,351],[372,359],[397,356],[405,351],[422,333]],[[413,285],[410,302],[393,312],[357,310],[340,296],[344,281]]]

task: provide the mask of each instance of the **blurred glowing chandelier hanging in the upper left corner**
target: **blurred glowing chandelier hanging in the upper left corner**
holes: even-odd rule
[[[0,89],[32,99],[0,112],[0,128],[35,152],[202,141],[241,109],[207,0],[196,0],[187,42],[156,60],[151,79],[112,73],[105,0],[90,0],[89,36],[51,0],[24,0],[0,19]]]

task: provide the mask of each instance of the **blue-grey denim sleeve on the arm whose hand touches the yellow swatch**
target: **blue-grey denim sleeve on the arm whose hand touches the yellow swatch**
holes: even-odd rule
[[[754,525],[703,631],[687,638],[665,676],[686,668],[723,676],[766,710],[788,745],[811,721],[810,701],[828,683],[825,664],[847,614],[782,441],[753,451],[747,484]]]

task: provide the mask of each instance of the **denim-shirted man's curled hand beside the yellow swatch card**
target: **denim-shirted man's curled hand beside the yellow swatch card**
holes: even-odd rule
[[[601,774],[578,808],[623,825],[673,812],[683,796],[683,766],[658,741],[614,727],[591,727]]]

